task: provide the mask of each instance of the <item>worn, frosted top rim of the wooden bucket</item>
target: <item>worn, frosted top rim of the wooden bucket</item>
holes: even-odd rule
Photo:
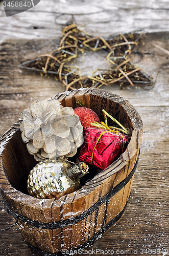
[[[133,125],[133,133],[131,136],[131,141],[129,142],[126,151],[120,155],[120,157],[113,162],[111,165],[109,165],[106,169],[102,170],[101,173],[95,175],[93,177],[92,180],[90,180],[89,182],[87,182],[84,186],[82,186],[82,188],[80,188],[79,190],[74,191],[73,193],[68,194],[68,196],[76,196],[75,200],[79,200],[81,197],[84,196],[88,196],[93,190],[95,190],[98,186],[100,186],[100,184],[102,184],[102,180],[105,179],[108,176],[108,174],[111,172],[111,175],[118,172],[118,170],[124,168],[128,161],[137,154],[138,150],[139,150],[139,146],[140,146],[140,140],[138,140],[138,134],[142,135],[143,132],[143,124],[142,124],[142,120],[138,114],[138,112],[135,110],[134,106],[126,99],[124,99],[123,97],[118,96],[117,94],[112,94],[111,92],[105,91],[103,89],[85,89],[85,88],[81,88],[78,90],[72,90],[70,92],[63,92],[60,93],[58,95],[56,95],[55,97],[58,96],[63,96],[63,97],[67,97],[67,96],[71,96],[71,94],[78,94],[83,92],[84,94],[87,93],[91,93],[93,95],[98,95],[98,93],[105,93],[107,94],[107,98],[111,99],[111,96],[114,97],[114,99],[112,101],[114,101],[115,103],[121,104],[122,107],[126,110],[127,112],[127,106],[130,105],[130,109],[132,110],[133,113],[136,114],[136,120],[133,119],[133,113],[132,115],[130,115],[131,113],[127,112],[127,115],[129,115],[129,118],[131,120],[131,123]],[[104,96],[103,96],[104,97]],[[14,136],[14,134],[19,131],[19,125],[20,125],[21,119],[19,119],[14,125],[11,126],[11,129],[9,129],[6,133],[4,133],[4,135],[0,138],[0,161],[2,162],[2,155],[3,152],[5,150],[6,145],[9,143],[10,139]],[[132,140],[134,140],[136,142],[137,147],[131,148],[132,147]],[[132,152],[132,155],[130,155],[129,153]],[[26,195],[23,194],[21,191],[15,189],[14,187],[12,187],[12,185],[9,183],[4,170],[0,169],[0,174],[2,173],[2,176],[5,177],[4,178],[4,184],[0,184],[0,188],[2,189],[3,193],[8,194],[8,196],[10,198],[13,198],[13,200],[16,200],[16,197],[13,197],[13,194],[16,195],[16,192],[18,193],[18,197],[17,197],[17,202],[21,203],[21,204],[26,204],[26,205],[30,205],[30,206],[36,206],[36,207],[40,207],[41,206],[41,202],[43,200],[43,208],[44,207],[49,207],[49,205],[51,205],[54,201],[55,198],[52,199],[37,199],[34,198],[30,195]],[[101,180],[102,178],[102,180]],[[0,178],[1,180],[1,178]],[[98,183],[98,185],[94,185],[95,181],[98,180],[102,183]],[[89,189],[88,187],[92,188],[93,185],[93,189]],[[77,196],[78,193],[78,196]],[[60,197],[59,199],[57,199],[55,201],[55,205],[60,206],[64,203],[63,199],[65,196]]]

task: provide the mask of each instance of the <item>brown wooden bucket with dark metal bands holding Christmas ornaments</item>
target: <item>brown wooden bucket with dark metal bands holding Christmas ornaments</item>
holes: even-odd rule
[[[102,109],[132,130],[126,151],[80,190],[60,199],[28,195],[27,178],[37,163],[22,142],[19,120],[1,137],[0,188],[8,212],[28,245],[42,255],[57,255],[94,243],[123,215],[138,162],[143,125],[124,98],[102,89],[79,89],[56,95],[63,106],[83,100],[103,119]],[[109,124],[111,125],[111,123]]]

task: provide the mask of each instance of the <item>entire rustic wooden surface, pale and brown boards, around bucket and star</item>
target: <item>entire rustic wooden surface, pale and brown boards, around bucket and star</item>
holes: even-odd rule
[[[169,33],[164,32],[168,31],[168,2],[133,0],[127,4],[125,0],[113,0],[111,3],[108,0],[98,3],[92,0],[83,3],[79,1],[79,5],[77,2],[72,1],[72,5],[65,8],[67,1],[60,1],[56,6],[54,0],[41,0],[35,8],[8,18],[5,17],[1,6],[0,37],[1,41],[7,40],[2,42],[0,49],[0,135],[18,120],[21,111],[31,102],[64,91],[61,84],[52,77],[21,72],[18,68],[20,61],[56,48],[61,35],[62,26],[59,24],[64,24],[70,18],[70,15],[62,15],[58,17],[56,24],[55,17],[60,13],[76,14],[77,23],[82,27],[84,25],[85,29],[94,35],[109,36],[133,29],[154,32],[147,33],[145,44],[139,48],[143,58],[137,63],[143,71],[153,77],[159,72],[154,89],[144,91],[130,87],[122,91],[116,85],[102,87],[128,99],[135,106],[143,120],[144,133],[140,160],[125,215],[90,249],[93,249],[93,252],[98,249],[97,255],[106,254],[105,250],[114,250],[114,253],[119,250],[121,253],[118,255],[134,255],[133,249],[138,255],[169,255]],[[94,61],[95,57],[98,57],[97,61]],[[81,67],[86,69],[89,61],[93,63],[94,68],[98,62],[106,65],[104,57],[103,53],[88,53]],[[85,72],[91,72],[94,68],[91,66]],[[0,207],[2,229],[11,225],[13,218],[4,211],[2,203]],[[0,253],[3,256],[36,255],[26,246],[16,226],[0,233],[0,244]],[[149,248],[154,249],[154,252],[148,253]],[[167,249],[168,253],[162,253],[162,248]],[[101,253],[101,249],[104,252]],[[142,253],[141,249],[148,250]],[[160,249],[160,252],[157,249]],[[130,253],[125,253],[125,250]],[[89,255],[89,252],[86,255]]]

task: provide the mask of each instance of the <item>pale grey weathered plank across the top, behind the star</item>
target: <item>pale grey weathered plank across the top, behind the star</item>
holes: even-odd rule
[[[168,31],[167,1],[159,0],[41,0],[34,8],[6,17],[0,8],[0,41],[7,38],[56,38],[74,15],[77,24],[95,36],[130,32]]]

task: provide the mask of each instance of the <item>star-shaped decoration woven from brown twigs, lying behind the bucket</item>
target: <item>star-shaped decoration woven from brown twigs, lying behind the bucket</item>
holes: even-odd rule
[[[130,61],[131,53],[138,45],[142,35],[140,31],[129,34],[119,34],[110,38],[93,37],[80,30],[76,24],[63,28],[63,37],[59,47],[48,54],[21,63],[21,69],[40,72],[41,76],[53,74],[65,86],[65,91],[79,88],[100,88],[118,83],[124,89],[126,86],[140,86],[150,90],[155,82]],[[80,69],[69,65],[85,51],[107,51],[108,70],[96,70],[91,76],[81,76]],[[97,73],[97,74],[96,74]]]

